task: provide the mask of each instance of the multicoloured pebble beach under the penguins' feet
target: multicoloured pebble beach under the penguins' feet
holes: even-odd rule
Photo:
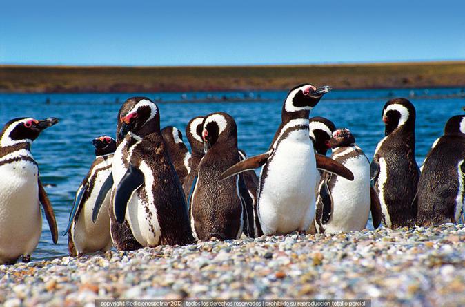
[[[464,306],[465,225],[245,238],[0,266],[4,306],[206,298]]]

